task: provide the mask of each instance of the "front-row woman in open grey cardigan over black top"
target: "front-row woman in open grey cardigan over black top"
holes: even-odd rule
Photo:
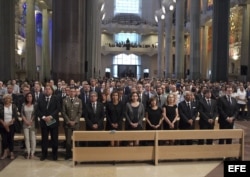
[[[131,93],[130,102],[126,104],[126,130],[142,130],[142,121],[144,118],[144,106],[139,102],[139,95],[137,92]],[[139,141],[130,142],[130,146],[138,146]]]

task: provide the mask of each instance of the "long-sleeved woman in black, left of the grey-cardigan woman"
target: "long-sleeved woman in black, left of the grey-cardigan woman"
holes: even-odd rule
[[[111,102],[106,108],[106,130],[122,130],[122,119],[124,116],[123,104],[119,101],[117,91],[111,93]],[[111,142],[111,146],[119,146],[119,141]]]

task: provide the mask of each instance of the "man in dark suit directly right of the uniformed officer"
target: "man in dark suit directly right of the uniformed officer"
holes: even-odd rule
[[[91,92],[90,103],[86,105],[86,130],[104,130],[104,108],[103,104],[98,102],[97,99],[97,93]]]

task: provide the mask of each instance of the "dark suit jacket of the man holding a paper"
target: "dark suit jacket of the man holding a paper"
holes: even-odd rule
[[[48,108],[47,108],[45,96],[43,96],[43,98],[38,100],[37,117],[40,118],[41,128],[47,127],[45,121],[42,119],[43,116],[52,116],[53,119],[56,120],[56,123],[52,124],[51,127],[58,126],[59,125],[59,115],[58,115],[59,111],[60,111],[60,104],[55,95],[51,96]]]

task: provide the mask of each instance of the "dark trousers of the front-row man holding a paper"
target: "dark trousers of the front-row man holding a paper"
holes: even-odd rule
[[[52,154],[54,157],[57,157],[58,151],[58,127],[41,127],[42,133],[42,155],[47,157],[48,155],[48,146],[49,146],[49,134],[51,137],[51,147],[52,147]]]

